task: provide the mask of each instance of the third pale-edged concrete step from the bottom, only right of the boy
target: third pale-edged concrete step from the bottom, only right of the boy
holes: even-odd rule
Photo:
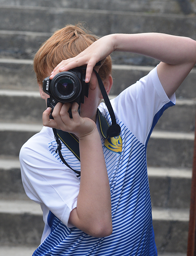
[[[191,169],[148,167],[152,207],[189,208]]]

